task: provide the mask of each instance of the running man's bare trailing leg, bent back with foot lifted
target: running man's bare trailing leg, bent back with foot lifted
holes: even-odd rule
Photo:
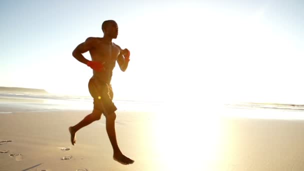
[[[99,120],[101,117],[101,113],[102,111],[98,109],[93,109],[92,113],[86,115],[79,123],[75,124],[74,126],[70,126],[68,128],[70,133],[70,142],[72,143],[72,145],[76,143],[76,138],[75,138],[76,131],[78,131],[80,128],[90,124],[95,120]]]

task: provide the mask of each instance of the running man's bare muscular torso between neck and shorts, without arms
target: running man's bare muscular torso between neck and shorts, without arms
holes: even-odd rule
[[[104,70],[101,72],[93,70],[93,77],[109,84],[112,70],[121,49],[115,43],[104,42],[102,38],[91,37],[91,39],[93,47],[89,50],[89,53],[92,61],[98,61],[104,65]]]

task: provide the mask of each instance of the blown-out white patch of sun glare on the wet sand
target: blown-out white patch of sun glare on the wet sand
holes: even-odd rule
[[[195,111],[180,108],[178,103],[165,106],[154,120],[152,138],[162,168],[208,170],[214,167],[213,164],[220,159],[219,113],[206,108]]]

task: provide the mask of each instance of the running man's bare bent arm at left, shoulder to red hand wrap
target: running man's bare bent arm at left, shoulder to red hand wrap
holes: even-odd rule
[[[94,37],[88,37],[86,40],[79,45],[73,50],[72,55],[80,62],[87,64],[89,60],[87,60],[82,53],[87,52],[91,48],[93,48],[93,40]]]

